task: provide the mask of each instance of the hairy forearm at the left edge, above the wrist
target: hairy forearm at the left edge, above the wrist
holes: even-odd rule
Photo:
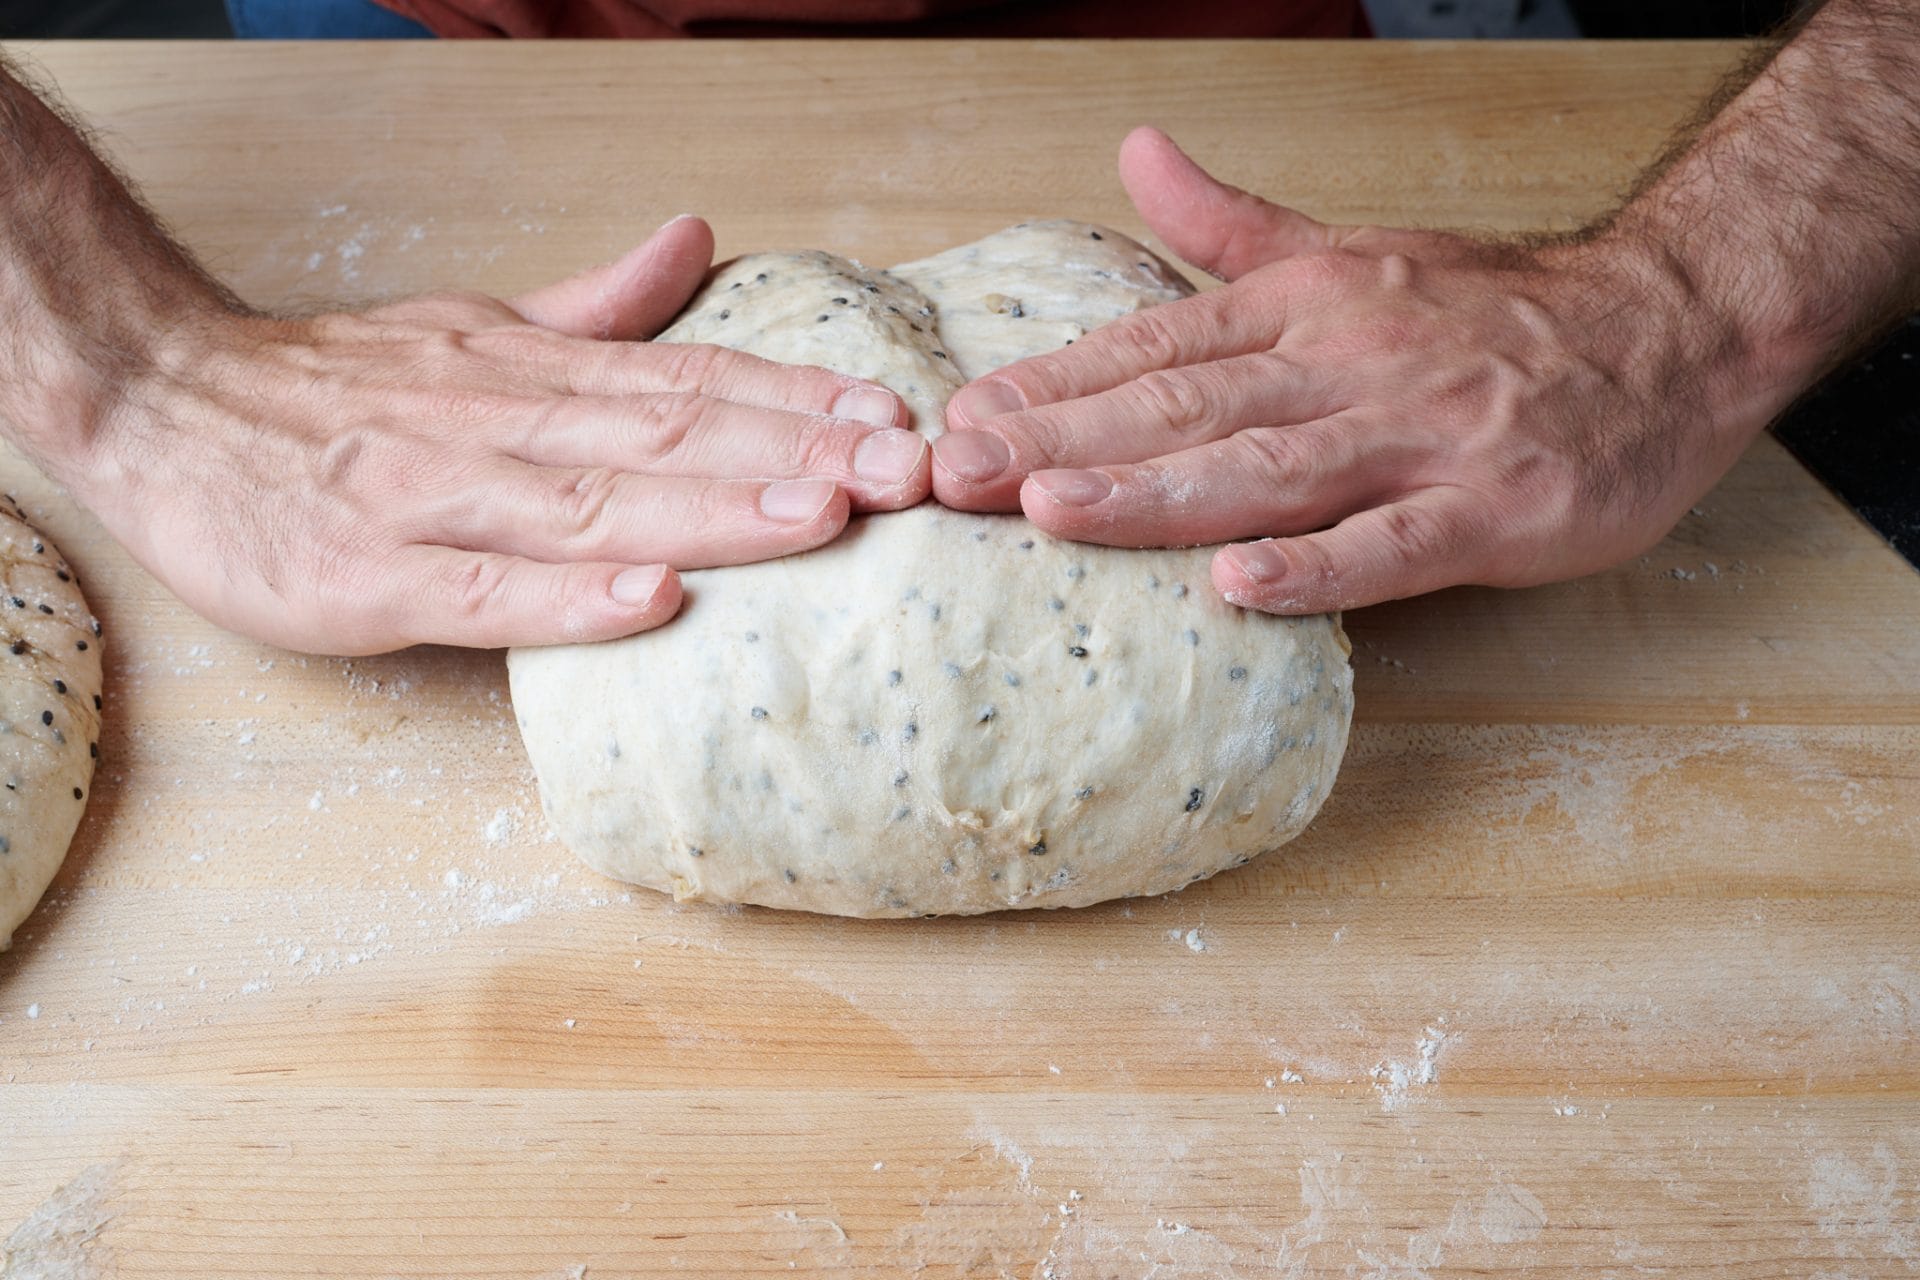
[[[169,336],[234,301],[0,63],[0,430],[61,480]]]

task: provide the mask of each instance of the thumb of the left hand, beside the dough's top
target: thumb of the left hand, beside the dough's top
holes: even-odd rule
[[[712,228],[682,213],[626,257],[520,294],[511,305],[572,338],[653,338],[701,286],[712,257]]]

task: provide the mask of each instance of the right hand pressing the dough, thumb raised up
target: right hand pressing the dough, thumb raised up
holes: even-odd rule
[[[1221,549],[1269,612],[1528,585],[1653,545],[1784,407],[1663,255],[1327,226],[1121,148],[1146,223],[1229,280],[962,388],[948,507],[1058,537]]]

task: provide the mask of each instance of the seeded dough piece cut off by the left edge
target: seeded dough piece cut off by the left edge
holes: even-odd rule
[[[0,509],[0,950],[67,856],[100,756],[100,622],[60,551]]]

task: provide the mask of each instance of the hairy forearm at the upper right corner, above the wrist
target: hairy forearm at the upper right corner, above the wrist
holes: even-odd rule
[[[1814,13],[1597,236],[1715,317],[1770,416],[1920,305],[1920,4]]]

